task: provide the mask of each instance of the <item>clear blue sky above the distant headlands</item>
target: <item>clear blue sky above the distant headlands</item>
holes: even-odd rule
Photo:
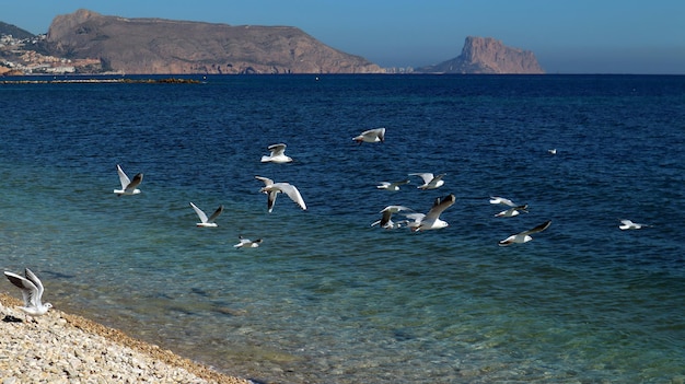
[[[0,0],[0,21],[45,33],[80,8],[297,26],[382,67],[454,58],[472,35],[532,50],[548,73],[685,74],[685,0]]]

